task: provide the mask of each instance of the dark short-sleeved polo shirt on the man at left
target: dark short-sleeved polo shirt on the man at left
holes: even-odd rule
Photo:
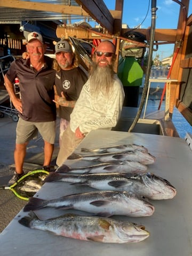
[[[30,67],[29,60],[15,60],[6,75],[14,83],[19,78],[23,113],[20,117],[30,122],[50,122],[56,119],[54,99],[55,70],[53,59],[45,56],[45,65],[39,71]]]

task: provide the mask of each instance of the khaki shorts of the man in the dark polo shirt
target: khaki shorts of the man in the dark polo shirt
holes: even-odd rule
[[[23,144],[41,134],[43,140],[54,144],[56,121],[51,122],[29,122],[19,118],[16,129],[16,143]]]

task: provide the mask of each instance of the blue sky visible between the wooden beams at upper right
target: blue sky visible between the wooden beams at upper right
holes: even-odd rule
[[[109,10],[115,10],[115,0],[104,0]],[[156,28],[176,29],[180,5],[172,0],[156,1]],[[190,1],[188,16],[192,13],[192,1]],[[147,15],[147,17],[146,17]],[[123,20],[130,28],[137,27],[142,23],[141,28],[151,26],[151,0],[124,0]],[[158,51],[154,54],[159,55],[162,60],[173,54],[173,44],[159,45]],[[153,54],[153,57],[154,57]]]

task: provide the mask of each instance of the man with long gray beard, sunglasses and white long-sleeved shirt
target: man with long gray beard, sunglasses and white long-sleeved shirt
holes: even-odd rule
[[[87,133],[116,126],[124,101],[123,85],[114,73],[115,45],[101,42],[94,52],[90,77],[84,84],[62,135],[57,165],[61,166]]]

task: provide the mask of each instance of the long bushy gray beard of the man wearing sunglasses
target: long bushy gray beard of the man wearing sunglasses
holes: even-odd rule
[[[114,84],[114,71],[112,66],[99,67],[97,63],[93,64],[90,74],[90,90],[94,96],[102,92],[108,95],[110,90],[113,89]]]

